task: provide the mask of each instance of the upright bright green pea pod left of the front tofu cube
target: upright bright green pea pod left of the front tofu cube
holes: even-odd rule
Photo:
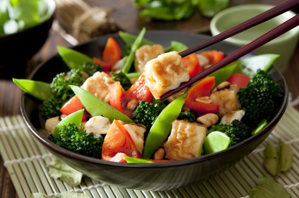
[[[144,158],[150,159],[155,150],[160,147],[167,138],[172,128],[172,122],[178,118],[186,97],[187,93],[176,98],[158,115],[145,141]]]

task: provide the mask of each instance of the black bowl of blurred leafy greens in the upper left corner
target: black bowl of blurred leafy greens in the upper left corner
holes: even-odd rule
[[[0,68],[28,60],[45,43],[56,8],[54,0],[45,2],[48,4],[48,19],[44,22],[13,34],[0,34]]]

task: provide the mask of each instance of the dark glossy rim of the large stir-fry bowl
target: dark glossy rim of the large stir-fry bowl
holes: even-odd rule
[[[208,35],[204,35],[204,34],[195,34],[195,33],[184,33],[181,31],[148,31],[147,33],[165,33],[165,34],[170,34],[170,33],[180,33],[181,35],[199,35],[205,39],[210,38],[210,36]],[[114,34],[107,34],[104,36],[100,36],[97,37],[95,39],[91,39],[87,42],[83,42],[80,43],[80,45],[76,45],[76,46],[72,46],[70,48],[75,48],[78,46],[82,46],[82,45],[86,45],[88,43],[94,42],[98,39],[102,39],[102,38],[106,38],[107,36],[118,36],[118,33],[114,33]],[[146,37],[146,36],[145,36]],[[225,42],[225,41],[223,41]],[[234,45],[235,47],[238,47],[238,45],[232,44],[232,43],[228,43],[225,42],[227,44],[230,45]],[[251,52],[253,54],[257,54],[255,52]],[[32,79],[34,74],[40,69],[42,68],[42,66],[48,62],[49,60],[53,59],[54,57],[56,57],[58,55],[55,54],[53,55],[51,58],[47,59],[46,61],[42,62],[39,64],[39,66],[37,66],[29,75],[28,79]],[[118,163],[118,162],[109,162],[109,161],[104,161],[101,159],[96,159],[96,158],[92,158],[92,157],[88,157],[88,156],[83,156],[74,152],[71,152],[69,150],[66,150],[62,147],[57,146],[56,144],[54,144],[54,142],[52,142],[51,140],[49,140],[48,138],[46,138],[45,136],[43,136],[41,133],[38,132],[38,130],[36,130],[33,125],[30,123],[29,118],[26,115],[25,112],[25,93],[23,92],[23,94],[21,95],[20,98],[20,108],[21,108],[21,114],[22,114],[22,118],[25,121],[26,126],[28,127],[29,131],[33,134],[33,136],[39,141],[41,142],[41,144],[43,144],[45,147],[47,147],[47,149],[53,151],[54,153],[58,153],[60,156],[64,156],[64,157],[68,157],[68,158],[72,158],[78,161],[82,161],[82,162],[87,162],[87,163],[91,163],[91,164],[95,164],[95,165],[109,165],[109,166],[114,166],[114,167],[128,167],[128,168],[165,168],[165,167],[176,167],[176,166],[184,166],[184,165],[190,165],[190,164],[195,164],[195,163],[200,163],[215,157],[220,157],[229,153],[234,152],[234,150],[239,149],[241,147],[244,147],[245,145],[248,145],[251,143],[251,141],[256,140],[257,138],[260,138],[261,136],[263,136],[268,130],[270,130],[272,127],[274,127],[277,122],[280,120],[280,118],[282,117],[284,111],[286,110],[287,107],[287,103],[288,103],[288,98],[289,98],[289,89],[288,86],[286,84],[286,80],[283,77],[283,74],[281,73],[281,71],[275,66],[272,65],[272,67],[274,68],[274,70],[277,72],[277,74],[279,75],[279,77],[282,79],[283,81],[283,90],[284,90],[284,96],[283,96],[283,102],[282,105],[277,113],[277,115],[275,115],[275,117],[272,119],[271,122],[269,122],[267,124],[267,126],[265,128],[263,128],[259,133],[251,136],[250,138],[247,138],[246,140],[232,146],[229,147],[226,150],[223,151],[219,151],[217,153],[212,153],[212,154],[208,154],[208,155],[203,155],[203,156],[199,156],[196,158],[192,158],[192,159],[186,159],[186,160],[178,160],[175,162],[166,162],[166,163],[153,163],[153,164],[127,164],[127,163]]]

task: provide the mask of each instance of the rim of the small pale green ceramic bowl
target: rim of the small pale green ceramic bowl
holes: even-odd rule
[[[211,33],[213,35],[217,35],[219,33],[222,33],[222,31],[219,30],[219,28],[218,28],[219,26],[217,26],[217,23],[218,23],[219,19],[221,19],[224,16],[230,15],[232,13],[240,13],[243,10],[257,10],[257,11],[265,12],[266,10],[269,10],[272,7],[274,7],[274,5],[269,5],[269,4],[245,4],[245,5],[237,5],[237,6],[229,7],[225,10],[220,11],[219,13],[217,13],[213,17],[213,19],[210,22]],[[285,13],[282,13],[281,15],[276,16],[276,17],[283,17],[283,16],[287,16],[287,18],[290,19],[290,18],[296,16],[296,13],[293,12],[292,10],[289,10],[289,11],[287,11]],[[280,37],[266,43],[265,45],[268,46],[268,45],[271,45],[271,44],[277,44],[277,43],[280,43],[280,42],[284,42],[288,39],[292,39],[292,38],[298,36],[298,34],[299,34],[299,27],[295,27],[295,28],[293,28],[292,30],[289,31],[288,35],[283,34],[283,36],[280,36]],[[238,45],[247,45],[253,39],[252,40],[244,40],[244,39],[229,37],[225,40],[229,41],[229,42],[232,42],[234,44],[238,44]]]

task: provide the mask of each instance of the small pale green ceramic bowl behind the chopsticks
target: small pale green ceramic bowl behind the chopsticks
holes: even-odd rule
[[[214,16],[210,23],[211,33],[213,36],[215,36],[235,25],[238,25],[239,23],[242,23],[260,13],[265,12],[266,10],[269,10],[272,7],[274,6],[263,4],[247,4],[222,10]],[[288,11],[260,25],[225,39],[225,41],[244,46],[295,15],[296,13]],[[294,53],[298,42],[298,36],[299,27],[296,27],[263,45],[256,51],[261,54],[280,54],[280,57],[275,61],[275,64],[280,68],[280,70],[283,71],[288,66],[289,60]]]

